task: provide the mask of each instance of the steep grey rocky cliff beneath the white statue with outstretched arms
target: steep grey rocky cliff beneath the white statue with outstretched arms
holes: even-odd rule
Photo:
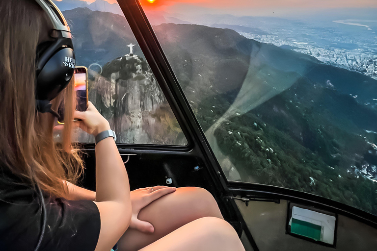
[[[136,55],[119,57],[89,81],[89,100],[108,119],[118,143],[185,145],[156,78]]]

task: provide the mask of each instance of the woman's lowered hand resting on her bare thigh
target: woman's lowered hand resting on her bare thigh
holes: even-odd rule
[[[140,210],[149,205],[152,201],[156,201],[164,195],[173,193],[175,190],[175,187],[154,186],[131,191],[132,217],[130,228],[137,229],[144,233],[153,233],[155,229],[152,224],[137,219]]]

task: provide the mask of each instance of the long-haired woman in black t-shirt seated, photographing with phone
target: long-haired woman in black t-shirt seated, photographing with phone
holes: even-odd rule
[[[0,250],[244,250],[206,190],[130,192],[111,137],[96,145],[96,192],[74,185],[83,163],[72,127],[96,136],[108,121],[90,102],[74,111],[68,85],[53,100],[54,110],[63,97],[66,107],[58,149],[54,116],[35,110],[36,51],[54,40],[50,20],[34,0],[1,0],[0,37]]]

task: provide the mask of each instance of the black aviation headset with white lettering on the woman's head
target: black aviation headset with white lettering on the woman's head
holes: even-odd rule
[[[51,100],[68,85],[75,71],[71,30],[63,14],[51,0],[36,0],[53,24],[50,37],[53,41],[38,45],[36,51],[36,109],[39,112],[57,113],[51,109]]]

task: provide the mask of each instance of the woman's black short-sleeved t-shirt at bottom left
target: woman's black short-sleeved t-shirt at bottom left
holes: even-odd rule
[[[43,216],[39,193],[0,172],[0,250],[34,251]],[[94,251],[100,212],[93,201],[44,195],[47,222],[39,251]]]

